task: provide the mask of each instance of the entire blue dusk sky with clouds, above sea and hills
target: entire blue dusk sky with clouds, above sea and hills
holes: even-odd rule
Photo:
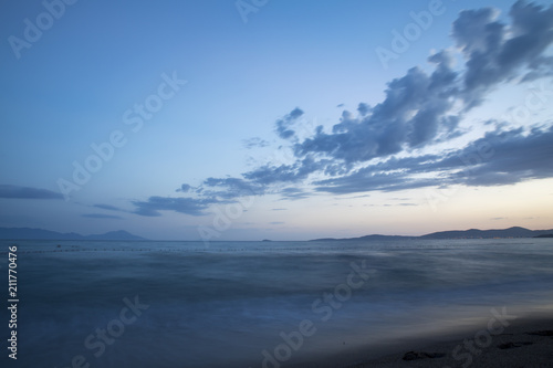
[[[552,1],[0,7],[0,227],[553,228]]]

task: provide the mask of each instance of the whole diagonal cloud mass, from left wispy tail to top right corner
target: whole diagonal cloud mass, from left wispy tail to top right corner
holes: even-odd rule
[[[178,191],[196,197],[153,197],[136,202],[138,213],[158,215],[170,209],[199,214],[210,203],[251,194],[296,200],[317,192],[499,186],[553,177],[551,127],[509,130],[500,123],[495,132],[460,149],[420,154],[463,135],[460,122],[492,91],[552,75],[547,50],[553,44],[553,6],[517,1],[509,22],[499,21],[498,14],[491,8],[462,11],[452,24],[455,48],[430,55],[429,70],[411,67],[390,81],[380,103],[343,111],[332,127],[317,126],[300,138],[294,124],[302,109],[278,119],[274,132],[288,140],[290,161],[268,162],[236,178],[208,178],[194,192],[182,185]],[[247,147],[263,146],[263,140],[252,139]]]

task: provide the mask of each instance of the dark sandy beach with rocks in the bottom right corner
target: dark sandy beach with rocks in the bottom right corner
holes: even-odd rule
[[[453,333],[411,336],[355,348],[293,368],[553,367],[553,315],[520,317],[501,330],[489,320]],[[495,333],[495,334],[494,334]]]

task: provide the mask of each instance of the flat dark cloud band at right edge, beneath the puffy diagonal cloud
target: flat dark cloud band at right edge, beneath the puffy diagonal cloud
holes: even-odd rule
[[[553,126],[491,132],[445,156],[392,158],[351,175],[315,181],[317,191],[395,191],[444,185],[501,186],[553,177]]]

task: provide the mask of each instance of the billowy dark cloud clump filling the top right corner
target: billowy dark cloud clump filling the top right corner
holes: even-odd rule
[[[453,22],[452,36],[467,57],[463,96],[468,107],[481,104],[486,92],[520,73],[523,81],[551,75],[544,51],[553,42],[553,6],[517,1],[511,24],[497,21],[493,9],[465,10]]]

